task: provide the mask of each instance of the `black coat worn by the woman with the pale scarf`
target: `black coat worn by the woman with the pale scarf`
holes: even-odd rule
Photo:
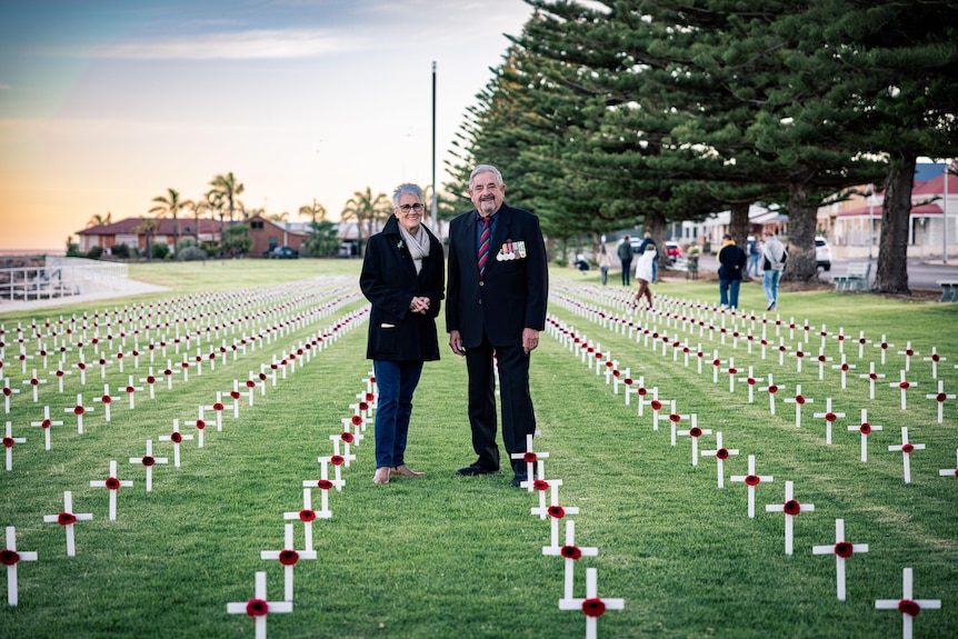
[[[383,361],[431,361],[439,359],[436,318],[442,299],[445,264],[442,244],[429,233],[429,256],[422,270],[416,264],[399,234],[399,221],[390,216],[382,232],[369,238],[359,287],[372,303],[366,357]],[[409,311],[413,297],[429,298],[426,314]]]

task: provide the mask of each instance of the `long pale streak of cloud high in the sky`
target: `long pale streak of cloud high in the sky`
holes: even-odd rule
[[[122,60],[265,60],[316,58],[362,49],[365,42],[311,29],[251,30],[97,47],[93,58]]]

